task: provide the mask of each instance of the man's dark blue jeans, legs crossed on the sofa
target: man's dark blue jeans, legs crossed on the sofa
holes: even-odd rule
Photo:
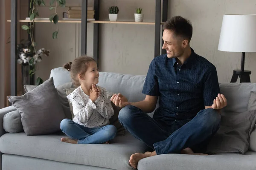
[[[186,147],[195,153],[205,152],[210,138],[220,127],[221,115],[214,109],[204,109],[182,127],[173,121],[170,128],[163,127],[140,108],[127,105],[119,112],[118,119],[134,137],[160,155],[180,153]]]

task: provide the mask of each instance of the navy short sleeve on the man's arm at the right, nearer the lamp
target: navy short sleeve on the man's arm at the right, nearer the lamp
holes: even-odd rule
[[[216,99],[218,94],[220,93],[220,87],[218,83],[218,76],[215,66],[209,69],[205,74],[203,85],[203,97],[204,97],[204,105],[211,106],[213,104],[213,100]]]

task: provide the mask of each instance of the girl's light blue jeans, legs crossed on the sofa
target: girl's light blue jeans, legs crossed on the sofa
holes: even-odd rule
[[[102,127],[88,128],[79,125],[73,120],[63,119],[61,121],[61,130],[70,139],[77,139],[78,144],[101,144],[114,139],[116,136],[116,127],[106,125]]]

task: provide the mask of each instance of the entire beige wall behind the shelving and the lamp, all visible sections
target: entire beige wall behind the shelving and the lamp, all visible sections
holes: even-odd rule
[[[68,5],[79,6],[81,0],[68,1]],[[71,4],[72,3],[72,4]],[[89,6],[93,1],[89,0]],[[49,2],[47,2],[49,4]],[[136,7],[142,7],[144,21],[154,21],[154,0],[100,0],[100,19],[108,20],[108,7],[119,6],[118,20],[133,21]],[[40,8],[41,17],[48,17],[49,7]],[[58,13],[64,9],[59,8]],[[193,36],[191,46],[195,52],[212,62],[218,71],[219,82],[230,82],[233,69],[239,69],[240,53],[218,51],[218,39],[223,14],[256,13],[255,0],[169,0],[169,18],[180,15],[192,21]],[[55,31],[53,23],[36,23],[35,40],[38,47],[51,51],[38,67],[38,75],[44,80],[50,70],[72,61],[80,52],[80,24],[59,23],[58,40],[52,40]],[[87,55],[93,54],[93,26],[88,24]],[[125,74],[143,74],[154,58],[154,26],[150,25],[100,25],[100,61],[101,71]],[[251,82],[256,82],[256,54],[248,53],[245,69],[251,70]]]

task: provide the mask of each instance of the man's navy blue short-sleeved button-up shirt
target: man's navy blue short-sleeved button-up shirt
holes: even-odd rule
[[[191,51],[183,65],[164,54],[149,66],[142,93],[159,96],[160,107],[153,119],[164,126],[174,122],[185,125],[204,106],[211,106],[220,93],[215,66]]]

